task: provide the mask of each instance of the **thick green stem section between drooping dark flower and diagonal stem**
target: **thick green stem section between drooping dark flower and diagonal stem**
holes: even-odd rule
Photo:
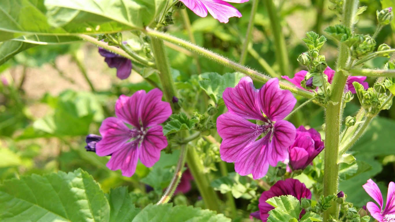
[[[166,101],[170,103],[173,112],[178,111],[180,107],[171,102],[173,100],[173,96],[177,96],[177,94],[174,87],[173,77],[170,72],[169,61],[167,59],[163,40],[152,37],[151,44],[152,52],[154,53],[156,61],[156,68],[159,70],[159,79],[160,83],[162,83],[162,90],[165,94]]]

